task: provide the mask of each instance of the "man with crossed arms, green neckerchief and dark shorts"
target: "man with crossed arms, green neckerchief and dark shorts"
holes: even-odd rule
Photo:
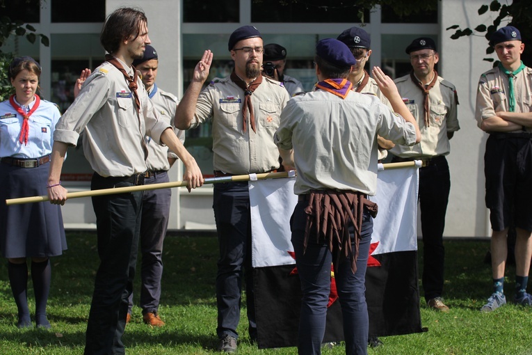
[[[514,26],[494,32],[490,46],[499,65],[481,75],[476,94],[478,127],[486,141],[484,173],[486,207],[492,224],[493,293],[483,312],[503,306],[504,269],[510,223],[515,226],[514,302],[532,306],[526,292],[532,256],[532,69],[521,61],[524,43]]]

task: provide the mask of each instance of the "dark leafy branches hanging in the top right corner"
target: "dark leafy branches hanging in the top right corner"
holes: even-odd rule
[[[492,0],[489,4],[484,4],[478,8],[478,15],[485,15],[488,11],[497,13],[497,17],[492,24],[479,24],[474,29],[460,29],[458,24],[448,27],[446,30],[456,30],[451,38],[457,40],[464,36],[484,36],[486,40],[490,40],[492,33],[497,31],[500,27],[512,25],[519,29],[522,41],[525,43],[525,50],[522,54],[522,61],[527,66],[532,66],[532,1],[530,0],[514,0],[510,5],[501,3],[499,0]],[[492,54],[493,47],[489,45],[486,47],[486,54]],[[484,58],[484,61],[493,62],[493,58]],[[494,62],[497,65],[498,61]]]

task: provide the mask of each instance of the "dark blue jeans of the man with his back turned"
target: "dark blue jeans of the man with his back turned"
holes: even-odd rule
[[[304,210],[307,205],[308,201],[300,201],[296,205],[291,223],[292,244],[303,291],[298,332],[298,351],[301,355],[321,354],[332,263],[332,253],[327,242],[316,242],[312,233],[303,253],[307,217]],[[334,275],[344,319],[346,354],[367,354],[369,320],[364,284],[372,232],[373,218],[364,208],[357,271],[355,274],[351,271],[349,258],[341,258],[340,265],[337,265],[337,274]],[[354,239],[352,245],[354,250]]]

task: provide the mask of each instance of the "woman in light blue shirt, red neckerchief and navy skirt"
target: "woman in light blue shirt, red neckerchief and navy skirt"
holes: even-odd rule
[[[15,95],[0,103],[0,201],[47,195],[52,136],[61,117],[55,104],[35,94],[41,68],[33,58],[15,58],[8,77]],[[19,328],[31,327],[28,265],[35,290],[35,323],[50,328],[46,304],[50,289],[49,258],[67,248],[58,205],[0,203],[0,253],[8,260],[8,275],[18,309]]]

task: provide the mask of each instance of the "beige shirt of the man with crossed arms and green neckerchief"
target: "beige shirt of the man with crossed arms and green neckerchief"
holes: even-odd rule
[[[515,112],[532,112],[532,68],[526,67],[515,75],[513,90]],[[493,68],[481,75],[476,93],[475,118],[478,127],[486,118],[497,116],[497,112],[508,112],[508,77],[499,68]],[[526,129],[532,132],[532,129]],[[520,129],[515,132],[522,132]]]

